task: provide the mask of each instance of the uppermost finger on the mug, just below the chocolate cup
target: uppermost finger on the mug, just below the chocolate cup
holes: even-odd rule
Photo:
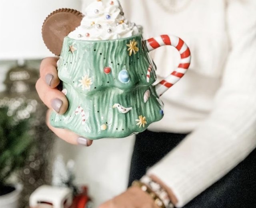
[[[60,84],[57,72],[57,61],[56,57],[48,57],[42,60],[40,65],[40,77],[43,78],[45,83],[51,88],[55,88]]]

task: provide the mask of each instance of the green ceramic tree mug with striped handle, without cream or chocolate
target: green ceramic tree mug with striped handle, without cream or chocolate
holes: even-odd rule
[[[164,45],[176,47],[181,61],[175,71],[154,85],[156,67],[148,52]],[[52,113],[50,123],[89,139],[120,138],[144,131],[162,119],[159,97],[183,77],[189,65],[186,43],[173,35],[106,41],[65,37],[58,76],[69,107],[64,115]]]

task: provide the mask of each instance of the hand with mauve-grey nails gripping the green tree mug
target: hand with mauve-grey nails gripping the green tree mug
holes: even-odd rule
[[[58,137],[68,143],[90,146],[92,140],[80,137],[70,130],[54,128],[50,125],[49,116],[52,110],[58,114],[64,114],[68,109],[66,96],[57,89],[57,86],[60,84],[56,69],[57,61],[58,59],[54,57],[44,59],[40,65],[40,78],[36,82],[38,95],[49,108],[46,115],[46,124]]]

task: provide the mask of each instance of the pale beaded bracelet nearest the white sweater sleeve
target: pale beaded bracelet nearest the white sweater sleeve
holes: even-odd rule
[[[140,179],[140,181],[146,184],[146,186],[151,188],[153,192],[155,192],[159,196],[160,200],[164,203],[164,206],[166,208],[174,208],[174,204],[171,202],[167,191],[164,188],[162,188],[160,184],[153,181],[152,178],[148,177],[147,175],[144,175]]]

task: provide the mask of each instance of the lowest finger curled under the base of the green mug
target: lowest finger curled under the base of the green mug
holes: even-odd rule
[[[50,130],[52,130],[53,133],[55,133],[58,137],[60,137],[64,141],[66,141],[70,144],[74,144],[74,145],[83,145],[86,147],[89,147],[90,145],[92,145],[92,140],[86,139],[84,137],[80,137],[73,131],[70,131],[67,129],[54,128],[50,124],[50,114],[51,114],[51,110],[48,110],[47,114],[46,114],[46,124],[50,128]]]

